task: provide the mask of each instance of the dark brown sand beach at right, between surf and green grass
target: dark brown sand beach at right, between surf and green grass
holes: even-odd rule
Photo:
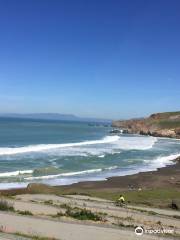
[[[125,176],[113,176],[102,181],[84,181],[64,188],[119,188],[121,190],[151,189],[155,187],[180,187],[180,157],[172,160],[174,164],[157,168],[154,171],[139,172]],[[57,186],[56,186],[57,187]]]

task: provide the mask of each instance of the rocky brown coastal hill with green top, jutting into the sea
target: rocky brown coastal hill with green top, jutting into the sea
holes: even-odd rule
[[[155,113],[147,118],[113,121],[112,127],[128,133],[180,138],[180,111]]]

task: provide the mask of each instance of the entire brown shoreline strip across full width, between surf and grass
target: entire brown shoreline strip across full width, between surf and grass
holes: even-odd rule
[[[139,172],[131,175],[112,176],[104,180],[97,181],[82,181],[69,185],[56,185],[51,186],[43,183],[30,183],[27,187],[17,187],[9,189],[0,189],[0,194],[23,192],[29,193],[32,188],[36,186],[44,186],[47,188],[63,189],[65,191],[73,191],[74,189],[80,190],[112,190],[118,189],[119,191],[131,190],[147,190],[153,188],[174,188],[180,187],[180,157],[171,160],[174,164],[169,164],[157,170]]]

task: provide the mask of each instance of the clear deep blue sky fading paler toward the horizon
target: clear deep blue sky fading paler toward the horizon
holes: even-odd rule
[[[179,0],[0,0],[0,112],[174,110]]]

